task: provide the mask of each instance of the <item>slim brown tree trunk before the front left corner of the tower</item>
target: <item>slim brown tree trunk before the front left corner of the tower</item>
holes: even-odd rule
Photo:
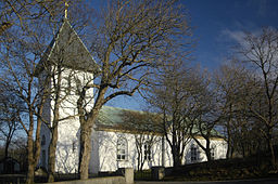
[[[48,182],[54,182],[55,172],[55,153],[56,153],[56,142],[58,142],[58,126],[53,127],[51,141],[48,149]]]

